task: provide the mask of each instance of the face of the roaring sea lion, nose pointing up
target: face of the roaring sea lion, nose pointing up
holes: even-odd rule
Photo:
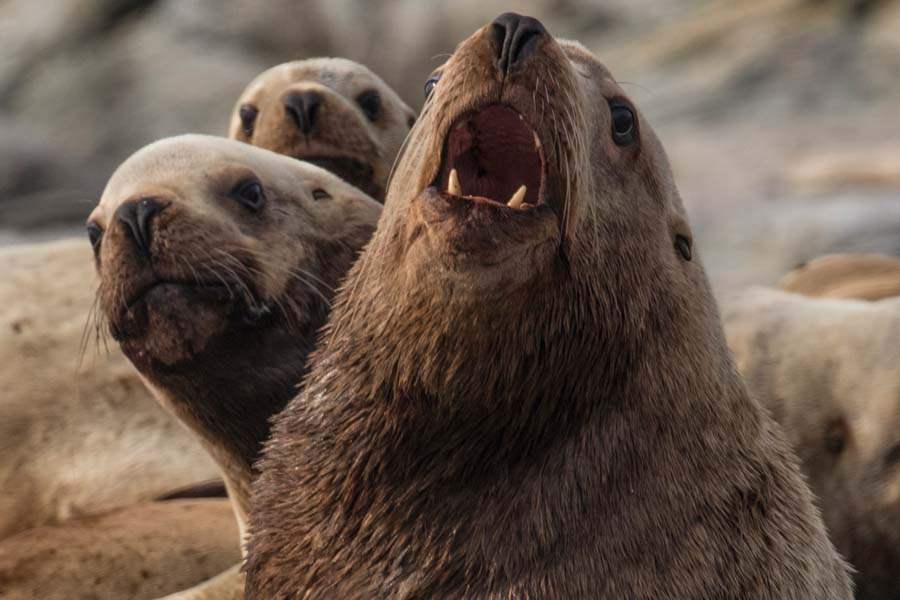
[[[393,235],[412,273],[437,261],[441,276],[489,294],[572,261],[652,276],[690,260],[661,145],[581,45],[503,15],[462,42],[429,88],[385,219],[404,224]]]

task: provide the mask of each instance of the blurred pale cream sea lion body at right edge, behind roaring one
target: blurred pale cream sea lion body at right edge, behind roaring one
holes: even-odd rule
[[[857,598],[900,599],[900,299],[757,288],[724,302],[753,395],[800,455]]]

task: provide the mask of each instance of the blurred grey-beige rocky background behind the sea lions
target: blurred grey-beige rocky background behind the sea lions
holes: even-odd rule
[[[0,1],[0,245],[82,231],[118,163],[224,135],[263,69],[336,55],[412,106],[498,13],[595,51],[667,147],[717,289],[830,251],[900,253],[894,0]]]

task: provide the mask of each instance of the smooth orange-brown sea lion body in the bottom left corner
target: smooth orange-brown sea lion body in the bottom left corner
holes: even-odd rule
[[[0,541],[0,598],[159,598],[239,558],[227,500],[136,504]]]

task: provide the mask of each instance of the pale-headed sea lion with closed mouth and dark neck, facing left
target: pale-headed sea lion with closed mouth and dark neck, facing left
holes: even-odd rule
[[[210,452],[242,532],[269,418],[380,212],[319,167],[192,135],[126,160],[91,213],[112,337]]]

